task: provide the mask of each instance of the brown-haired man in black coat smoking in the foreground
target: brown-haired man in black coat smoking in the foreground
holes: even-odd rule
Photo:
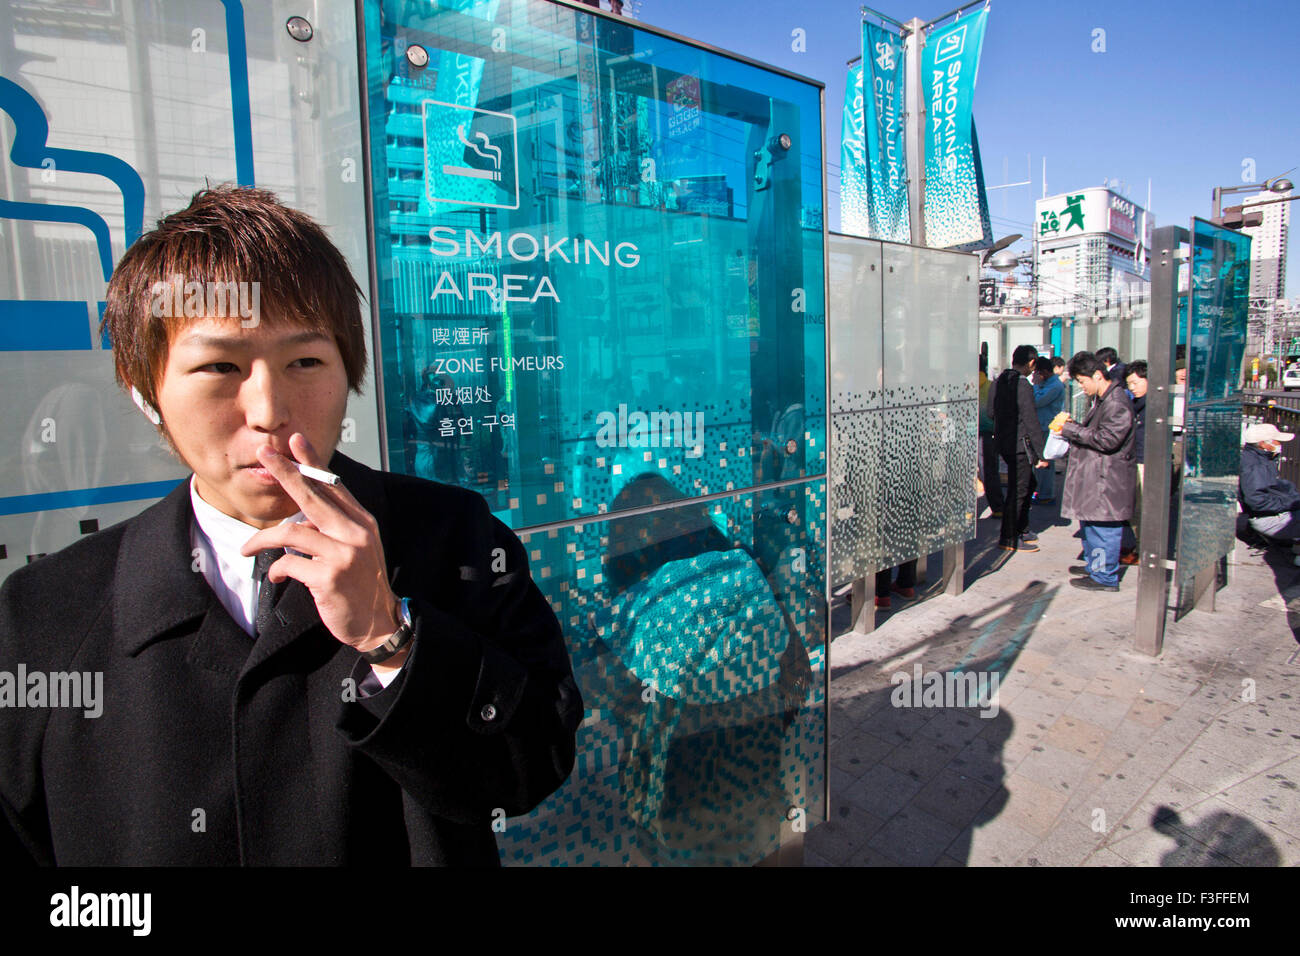
[[[164,320],[169,276],[263,312]],[[498,865],[581,696],[486,501],[335,450],[367,367],[342,254],[205,190],[122,256],[103,332],[192,475],[0,588],[0,861]]]

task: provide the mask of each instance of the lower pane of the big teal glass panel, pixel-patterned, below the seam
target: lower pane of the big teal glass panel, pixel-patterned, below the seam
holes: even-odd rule
[[[588,705],[568,782],[510,864],[754,864],[826,816],[826,483],[524,532]]]

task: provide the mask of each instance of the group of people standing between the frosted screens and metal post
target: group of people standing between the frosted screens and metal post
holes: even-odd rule
[[[1065,410],[1066,381],[1089,399],[1082,420]],[[1066,362],[1022,345],[993,380],[980,356],[983,488],[991,515],[1001,520],[1001,550],[1039,550],[1030,509],[1056,502],[1056,467],[1065,459],[1061,516],[1078,519],[1083,537],[1083,563],[1070,568],[1070,584],[1119,591],[1121,564],[1138,563],[1145,395],[1147,363],[1126,365],[1114,349]],[[1128,525],[1132,545],[1124,548]]]

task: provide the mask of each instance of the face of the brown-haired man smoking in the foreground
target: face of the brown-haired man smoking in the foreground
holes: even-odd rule
[[[159,411],[199,497],[256,528],[296,512],[257,449],[292,458],[289,436],[302,432],[329,460],[347,407],[334,339],[303,326],[246,329],[238,319],[199,319],[170,338]]]

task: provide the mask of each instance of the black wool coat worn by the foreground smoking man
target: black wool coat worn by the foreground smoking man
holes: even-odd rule
[[[254,641],[194,567],[183,481],[0,588],[0,671],[103,674],[95,718],[0,708],[0,861],[499,864],[494,821],[573,766],[560,626],[481,496],[329,467],[411,598],[396,680],[358,700],[368,667],[292,579]]]

